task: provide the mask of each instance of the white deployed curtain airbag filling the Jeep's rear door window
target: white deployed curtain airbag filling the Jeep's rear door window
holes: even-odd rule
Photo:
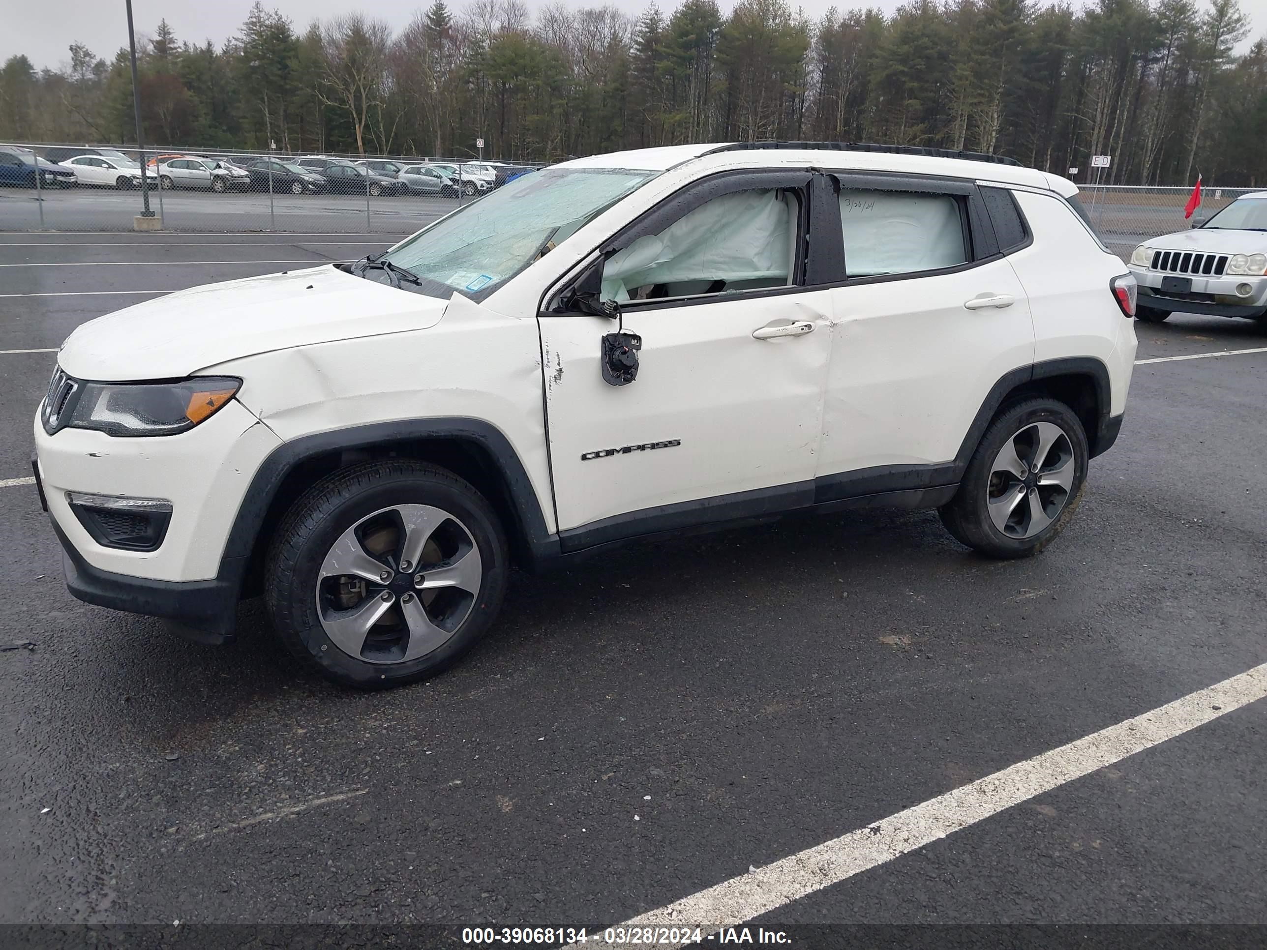
[[[840,223],[851,277],[964,263],[959,204],[949,195],[841,189]]]

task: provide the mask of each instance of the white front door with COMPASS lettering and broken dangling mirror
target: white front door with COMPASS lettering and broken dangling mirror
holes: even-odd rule
[[[812,503],[831,351],[831,294],[806,281],[812,179],[717,176],[634,222],[592,265],[618,320],[579,312],[566,282],[547,298],[565,551]],[[620,324],[641,337],[639,372],[611,385],[602,341]]]

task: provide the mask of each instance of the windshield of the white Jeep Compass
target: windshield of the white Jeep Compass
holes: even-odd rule
[[[412,271],[423,286],[483,299],[655,175],[544,168],[442,218],[381,260]]]

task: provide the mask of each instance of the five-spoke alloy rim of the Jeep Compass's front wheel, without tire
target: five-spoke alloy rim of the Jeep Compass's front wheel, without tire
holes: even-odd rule
[[[361,518],[331,546],[317,575],[317,614],[353,659],[407,662],[457,632],[483,576],[479,547],[459,518],[399,504]]]

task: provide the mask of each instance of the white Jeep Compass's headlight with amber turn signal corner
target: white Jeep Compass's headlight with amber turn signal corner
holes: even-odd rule
[[[205,422],[242,385],[226,376],[182,383],[84,383],[65,426],[108,436],[174,436]]]

